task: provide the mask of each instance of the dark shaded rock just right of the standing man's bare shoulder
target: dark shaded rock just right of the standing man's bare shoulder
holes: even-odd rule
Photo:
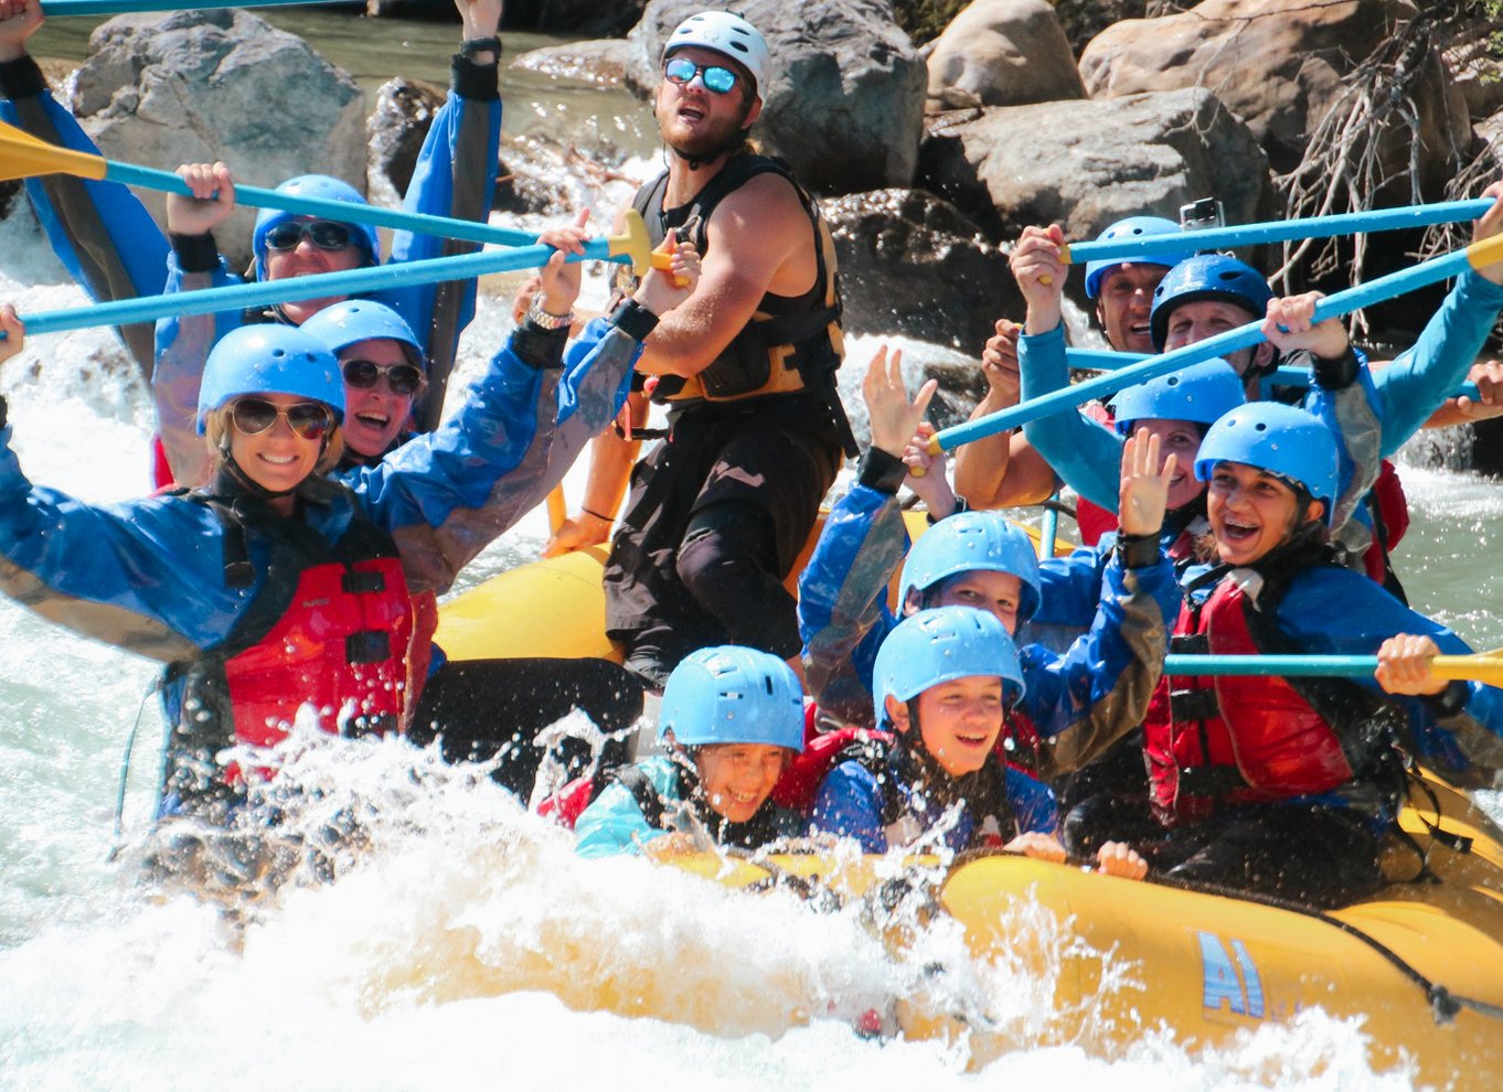
[[[852,333],[903,333],[980,356],[992,323],[1022,314],[1007,257],[953,204],[921,189],[821,203]]]

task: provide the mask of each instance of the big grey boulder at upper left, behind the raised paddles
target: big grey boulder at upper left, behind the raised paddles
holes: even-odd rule
[[[107,158],[164,170],[222,159],[248,185],[316,171],[365,189],[364,96],[301,38],[213,9],[120,15],[89,45],[72,108]],[[143,200],[165,222],[165,197]],[[236,264],[254,219],[242,209],[215,233]]]

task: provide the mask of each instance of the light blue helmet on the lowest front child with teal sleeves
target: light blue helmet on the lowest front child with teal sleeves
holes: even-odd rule
[[[658,739],[804,750],[804,691],[771,652],[721,644],[688,653],[663,686]]]

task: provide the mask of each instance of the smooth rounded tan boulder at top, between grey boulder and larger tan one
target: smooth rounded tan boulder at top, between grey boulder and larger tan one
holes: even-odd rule
[[[929,54],[929,110],[1084,98],[1075,54],[1046,0],[975,0]]]

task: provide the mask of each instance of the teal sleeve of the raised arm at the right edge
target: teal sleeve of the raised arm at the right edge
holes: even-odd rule
[[[1456,278],[1419,341],[1374,376],[1383,418],[1383,455],[1393,455],[1471,371],[1503,308],[1503,285],[1474,270]]]

